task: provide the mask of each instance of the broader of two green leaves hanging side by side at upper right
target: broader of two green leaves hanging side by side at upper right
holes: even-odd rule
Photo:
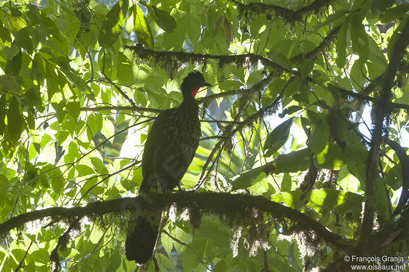
[[[365,31],[365,27],[363,27],[362,20],[357,14],[352,15],[350,32],[352,50],[359,55],[359,60],[363,63],[368,59],[369,55],[368,34]]]

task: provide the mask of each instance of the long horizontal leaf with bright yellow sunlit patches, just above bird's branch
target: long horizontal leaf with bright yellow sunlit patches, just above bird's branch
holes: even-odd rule
[[[351,212],[356,216],[362,210],[363,196],[356,193],[335,189],[311,190],[301,200],[300,197],[303,193],[302,190],[276,193],[271,195],[271,201],[284,203],[286,206],[297,210],[322,208],[339,214]]]

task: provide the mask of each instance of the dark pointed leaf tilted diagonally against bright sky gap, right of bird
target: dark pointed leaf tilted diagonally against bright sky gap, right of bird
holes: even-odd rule
[[[284,145],[290,134],[291,125],[292,118],[282,122],[268,134],[264,142],[265,157],[270,157]]]

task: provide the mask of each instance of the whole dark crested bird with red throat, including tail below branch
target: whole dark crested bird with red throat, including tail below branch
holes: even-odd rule
[[[193,160],[200,140],[199,107],[194,98],[200,87],[211,86],[203,75],[191,72],[180,86],[183,102],[157,115],[146,139],[142,156],[139,192],[164,192],[179,186]],[[142,265],[152,257],[159,236],[162,211],[139,215],[127,234],[125,255]]]

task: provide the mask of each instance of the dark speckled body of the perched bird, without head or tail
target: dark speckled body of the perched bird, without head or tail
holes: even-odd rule
[[[156,117],[142,156],[141,192],[149,192],[150,187],[157,190],[158,184],[162,192],[178,185],[199,145],[198,113],[197,102],[190,95],[178,107]]]

